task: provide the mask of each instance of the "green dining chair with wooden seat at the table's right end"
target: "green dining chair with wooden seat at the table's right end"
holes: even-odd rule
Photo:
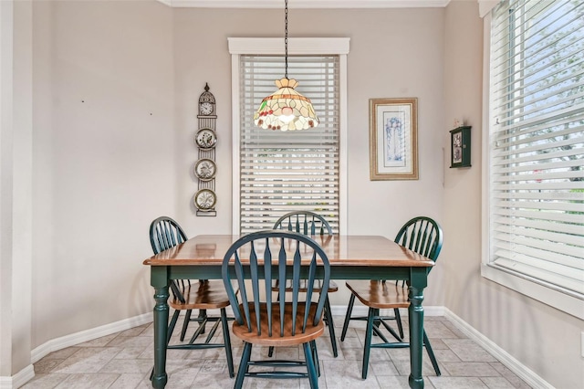
[[[442,228],[430,217],[418,216],[409,220],[403,225],[395,237],[395,242],[403,247],[407,247],[412,251],[426,258],[435,261],[440,254],[443,244]],[[351,280],[345,283],[349,288],[351,295],[349,299],[349,306],[345,321],[343,323],[343,331],[340,336],[340,342],[345,340],[347,330],[349,328],[349,321],[351,320],[366,320],[367,327],[365,331],[365,347],[363,351],[363,366],[361,376],[363,379],[367,378],[367,371],[369,367],[371,348],[409,348],[409,342],[403,342],[403,330],[401,326],[400,308],[408,308],[410,301],[408,300],[408,288],[404,282],[387,281],[385,279],[371,279],[367,280]],[[369,308],[367,317],[351,317],[353,304],[355,298]],[[393,317],[381,315],[380,310],[394,310]],[[387,323],[388,320],[395,320],[398,322],[400,334],[398,335]],[[389,341],[383,332],[381,326],[391,333],[396,342]],[[376,335],[381,342],[372,343],[372,336]],[[440,368],[436,362],[432,345],[428,340],[426,331],[423,330],[423,346],[428,352],[430,362],[433,365],[436,375],[441,375]]]

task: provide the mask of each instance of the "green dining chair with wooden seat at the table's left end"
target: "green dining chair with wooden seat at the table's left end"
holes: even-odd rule
[[[178,225],[171,217],[161,216],[154,219],[150,226],[150,240],[154,254],[158,254],[166,249],[182,244],[187,240],[183,228]],[[229,298],[224,289],[223,281],[210,281],[208,279],[199,279],[194,281],[187,279],[172,279],[170,289],[172,296],[168,303],[174,310],[172,319],[168,327],[167,349],[198,350],[224,347],[227,358],[227,369],[229,376],[235,376],[233,355],[231,351],[231,340],[229,337],[229,325],[227,324],[226,307],[229,306]],[[185,311],[183,322],[183,331],[180,340],[183,342],[184,335],[190,321],[199,322],[199,327],[194,331],[193,336],[187,343],[170,344],[172,331],[176,326],[181,311]],[[191,318],[193,310],[199,310],[199,317]],[[220,310],[220,316],[208,316],[207,310]],[[214,322],[204,342],[195,342],[197,338],[204,333],[205,324]],[[222,325],[223,343],[211,342],[215,332]]]

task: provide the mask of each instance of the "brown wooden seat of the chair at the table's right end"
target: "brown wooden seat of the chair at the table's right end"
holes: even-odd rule
[[[379,310],[390,308],[408,308],[408,289],[395,285],[395,282],[348,281],[347,288],[360,300],[363,305]]]

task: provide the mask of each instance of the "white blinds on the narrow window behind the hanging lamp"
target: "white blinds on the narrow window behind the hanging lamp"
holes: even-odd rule
[[[339,232],[339,56],[288,58],[288,77],[317,112],[317,128],[267,131],[253,116],[276,90],[283,56],[240,59],[240,232],[271,228],[290,211],[324,216]]]

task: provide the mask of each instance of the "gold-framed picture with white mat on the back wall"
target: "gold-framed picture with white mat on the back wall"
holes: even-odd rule
[[[370,99],[370,180],[418,179],[418,99]]]

